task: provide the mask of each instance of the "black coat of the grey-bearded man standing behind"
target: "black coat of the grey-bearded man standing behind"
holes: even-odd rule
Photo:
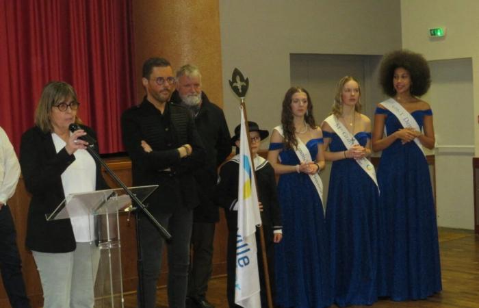
[[[181,103],[177,91],[171,100]],[[214,202],[218,167],[231,154],[231,136],[224,118],[223,110],[211,103],[204,92],[201,92],[201,107],[194,123],[200,134],[206,151],[206,160],[202,168],[194,172],[199,187],[200,205],[194,209],[195,222],[218,222],[220,214]]]

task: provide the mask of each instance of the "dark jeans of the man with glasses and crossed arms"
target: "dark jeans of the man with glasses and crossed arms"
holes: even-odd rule
[[[139,239],[143,258],[140,279],[143,281],[144,305],[140,305],[138,292],[138,307],[155,308],[161,253],[165,241],[146,216],[139,216]],[[155,218],[172,235],[168,243],[168,307],[185,308],[193,211],[179,206],[172,214],[157,214]]]

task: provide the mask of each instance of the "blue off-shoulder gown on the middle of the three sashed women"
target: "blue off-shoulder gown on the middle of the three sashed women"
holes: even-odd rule
[[[336,133],[331,152],[345,151]],[[365,146],[371,133],[354,136]],[[331,255],[331,284],[336,305],[372,305],[378,298],[378,187],[354,159],[333,162],[326,203]]]

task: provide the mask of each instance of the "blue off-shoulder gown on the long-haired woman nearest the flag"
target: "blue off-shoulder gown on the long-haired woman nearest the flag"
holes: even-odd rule
[[[322,138],[306,146],[311,157],[318,154]],[[283,149],[283,143],[270,144],[270,150]],[[300,164],[296,153],[279,153],[281,164]],[[283,215],[283,240],[275,246],[276,305],[296,308],[322,308],[331,305],[327,236],[320,196],[305,173],[281,175],[278,198]]]

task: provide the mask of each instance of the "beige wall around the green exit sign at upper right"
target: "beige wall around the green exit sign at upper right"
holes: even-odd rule
[[[424,54],[427,60],[472,58],[475,155],[479,153],[479,2],[476,0],[402,0],[402,43],[404,48]],[[429,38],[428,29],[445,27],[444,38]]]

